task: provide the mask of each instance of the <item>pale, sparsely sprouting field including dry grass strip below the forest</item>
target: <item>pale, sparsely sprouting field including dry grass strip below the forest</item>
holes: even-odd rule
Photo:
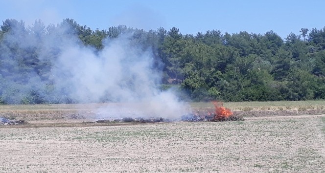
[[[97,104],[1,106],[28,124],[0,126],[0,172],[325,173],[324,105],[226,103],[245,121],[174,123],[92,123]]]

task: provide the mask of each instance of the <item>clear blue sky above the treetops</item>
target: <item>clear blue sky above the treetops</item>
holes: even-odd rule
[[[182,34],[221,30],[285,38],[301,28],[325,27],[325,0],[0,0],[0,19],[45,24],[74,19],[92,29],[124,24],[144,30],[164,27]]]

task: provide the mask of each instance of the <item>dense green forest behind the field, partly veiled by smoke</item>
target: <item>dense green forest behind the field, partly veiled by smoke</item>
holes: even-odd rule
[[[288,33],[283,40],[272,30],[264,34],[209,30],[192,35],[177,27],[145,31],[119,25],[93,30],[73,19],[48,26],[40,20],[25,26],[23,21],[6,19],[0,26],[0,104],[77,102],[53,89],[57,84],[50,69],[61,49],[44,41],[64,42],[62,35],[95,53],[105,47],[105,40],[127,35],[133,46],[152,52],[151,68],[161,74],[159,88],[176,88],[182,100],[325,99],[325,27],[297,31],[301,34]],[[42,85],[33,85],[31,74]],[[26,92],[18,91],[22,88]]]

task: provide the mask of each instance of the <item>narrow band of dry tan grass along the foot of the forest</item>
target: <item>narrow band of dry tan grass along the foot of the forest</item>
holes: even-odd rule
[[[109,105],[122,103],[109,103]],[[0,114],[66,114],[91,112],[108,104],[54,104],[54,105],[0,105]],[[210,102],[190,103],[195,110],[213,110]],[[224,106],[234,111],[259,110],[325,110],[325,101],[281,101],[281,102],[229,102]]]

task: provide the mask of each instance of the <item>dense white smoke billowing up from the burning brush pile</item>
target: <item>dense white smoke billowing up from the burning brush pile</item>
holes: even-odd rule
[[[151,52],[132,47],[127,37],[120,37],[106,41],[98,55],[91,48],[66,47],[55,63],[53,77],[58,88],[70,88],[70,96],[79,102],[123,103],[101,108],[101,118],[177,119],[187,113],[187,106],[172,91],[157,88],[161,76],[152,63]]]

